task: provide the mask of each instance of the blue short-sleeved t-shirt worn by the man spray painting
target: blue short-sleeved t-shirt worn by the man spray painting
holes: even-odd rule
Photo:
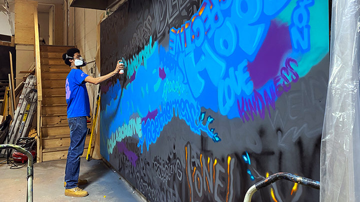
[[[67,118],[90,116],[85,78],[88,75],[80,69],[71,69],[66,76]]]

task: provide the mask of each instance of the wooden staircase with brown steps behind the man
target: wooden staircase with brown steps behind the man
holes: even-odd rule
[[[67,157],[70,130],[66,118],[65,80],[70,67],[62,60],[62,54],[69,48],[72,46],[40,46],[41,143],[37,152],[40,162]],[[83,157],[86,156],[89,139],[90,135],[87,135]]]

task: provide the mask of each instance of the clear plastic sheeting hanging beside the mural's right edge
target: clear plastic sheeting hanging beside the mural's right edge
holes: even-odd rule
[[[333,0],[320,202],[360,202],[360,0]]]

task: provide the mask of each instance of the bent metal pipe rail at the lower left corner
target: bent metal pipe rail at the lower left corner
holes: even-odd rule
[[[27,174],[26,174],[26,181],[27,181],[27,188],[26,188],[26,201],[32,202],[32,180],[33,180],[33,157],[31,153],[20,146],[13,145],[13,144],[5,144],[0,145],[0,150],[2,149],[14,149],[24,155],[27,156]]]

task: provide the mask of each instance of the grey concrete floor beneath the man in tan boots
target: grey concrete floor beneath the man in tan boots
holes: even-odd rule
[[[88,184],[79,188],[89,195],[84,198],[66,197],[63,187],[65,164],[66,160],[34,164],[34,202],[145,202],[136,191],[133,194],[129,184],[103,161],[87,162],[85,158],[81,158],[79,178],[86,179]],[[9,167],[0,165],[0,202],[26,201],[26,166],[20,169]]]

